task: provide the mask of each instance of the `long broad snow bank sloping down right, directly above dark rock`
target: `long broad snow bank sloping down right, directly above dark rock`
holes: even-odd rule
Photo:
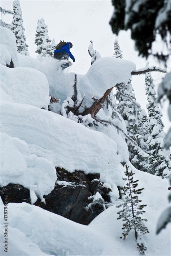
[[[31,153],[54,166],[69,172],[98,172],[113,189],[122,184],[122,157],[115,141],[103,133],[56,113],[10,102],[1,104],[1,123],[2,132],[25,140]]]

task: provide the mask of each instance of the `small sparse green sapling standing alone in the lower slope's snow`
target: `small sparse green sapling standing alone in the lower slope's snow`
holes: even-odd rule
[[[137,248],[139,248],[140,250],[140,255],[144,255],[144,252],[147,248],[141,242],[141,236],[149,233],[149,230],[147,227],[145,227],[143,223],[146,222],[147,219],[143,219],[140,216],[144,214],[145,210],[143,209],[146,205],[141,205],[140,203],[142,201],[138,198],[138,195],[142,193],[142,190],[144,188],[136,189],[136,187],[138,186],[137,182],[139,180],[133,180],[134,174],[135,173],[133,173],[132,171],[129,172],[128,166],[126,165],[126,177],[123,178],[123,180],[127,181],[127,183],[124,187],[120,188],[124,202],[116,206],[117,208],[122,207],[122,210],[117,212],[117,214],[119,214],[119,217],[117,219],[122,219],[124,221],[122,227],[123,233],[120,238],[126,239],[130,231],[134,230],[135,238],[138,241]]]

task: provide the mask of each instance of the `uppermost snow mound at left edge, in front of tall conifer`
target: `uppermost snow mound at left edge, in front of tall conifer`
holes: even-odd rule
[[[10,64],[11,60],[14,63],[14,67],[18,66],[18,54],[16,47],[16,37],[13,32],[0,26],[0,59],[1,64]],[[3,61],[2,61],[3,60]]]

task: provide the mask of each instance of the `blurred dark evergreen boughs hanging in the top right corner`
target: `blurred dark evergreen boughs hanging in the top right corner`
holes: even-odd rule
[[[131,38],[135,41],[135,47],[142,57],[154,55],[160,61],[167,61],[169,54],[163,53],[162,48],[160,54],[153,53],[152,43],[156,40],[157,34],[160,34],[163,44],[170,51],[170,44],[167,37],[170,35],[170,0],[158,0],[157,5],[153,1],[117,1],[112,0],[114,13],[110,20],[113,33],[118,35],[120,30],[131,30]],[[153,17],[148,15],[153,13]],[[123,22],[124,21],[124,22]],[[142,42],[146,42],[142,47]]]

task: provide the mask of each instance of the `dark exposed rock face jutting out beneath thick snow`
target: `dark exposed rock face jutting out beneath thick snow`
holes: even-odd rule
[[[57,183],[54,190],[44,196],[45,204],[38,199],[36,206],[85,225],[108,207],[111,190],[99,181],[100,174],[86,175],[82,171],[69,173],[60,168],[56,168],[56,171]],[[101,198],[93,199],[97,192]],[[3,201],[4,196],[8,195],[8,202],[31,203],[29,190],[18,184],[0,188],[0,195]]]

